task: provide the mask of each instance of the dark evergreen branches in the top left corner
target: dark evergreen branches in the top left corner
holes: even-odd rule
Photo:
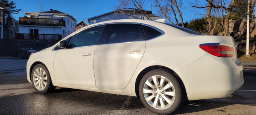
[[[12,10],[12,12],[14,12],[14,14],[18,14],[21,9],[15,9],[16,8],[16,6],[14,6],[15,4],[16,3],[14,3],[13,1],[0,0],[0,6],[2,6],[4,8],[8,8],[9,10]]]

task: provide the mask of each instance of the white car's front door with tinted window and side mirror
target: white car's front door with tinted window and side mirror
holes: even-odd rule
[[[58,85],[95,88],[94,53],[101,42],[105,25],[74,34],[67,48],[58,50],[54,58],[54,74]]]

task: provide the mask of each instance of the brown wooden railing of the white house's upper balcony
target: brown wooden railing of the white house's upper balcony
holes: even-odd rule
[[[49,19],[49,18],[19,17],[19,24],[41,25],[41,26],[64,26],[64,27],[66,27],[65,20],[63,20],[63,19]]]

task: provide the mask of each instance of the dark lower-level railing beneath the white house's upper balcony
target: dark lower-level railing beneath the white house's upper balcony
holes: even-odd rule
[[[15,33],[15,39],[24,40],[61,40],[62,36],[60,34],[22,34]]]

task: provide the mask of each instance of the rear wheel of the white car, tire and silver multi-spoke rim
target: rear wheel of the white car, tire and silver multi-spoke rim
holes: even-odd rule
[[[157,79],[155,80],[156,82],[154,79]],[[158,85],[156,86],[155,83],[158,83]],[[164,69],[149,71],[140,81],[140,100],[148,110],[156,114],[166,115],[173,113],[182,105],[183,94],[182,85],[177,78]],[[146,98],[148,101],[146,101]],[[171,103],[171,101],[173,102]]]

